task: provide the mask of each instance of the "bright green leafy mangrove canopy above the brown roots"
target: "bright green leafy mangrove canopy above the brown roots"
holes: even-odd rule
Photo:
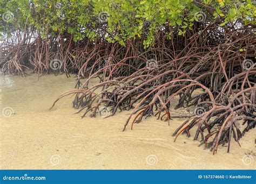
[[[71,34],[74,41],[104,38],[123,46],[131,39],[142,39],[144,47],[152,46],[159,30],[164,30],[167,39],[176,33],[184,35],[197,24],[198,15],[203,16],[200,18],[205,22],[216,19],[219,26],[235,21],[255,26],[256,15],[250,0],[2,1],[1,15],[6,11],[14,15],[10,22],[2,20],[2,33],[11,34],[30,27],[44,39],[49,35]],[[104,20],[100,18],[102,15]]]

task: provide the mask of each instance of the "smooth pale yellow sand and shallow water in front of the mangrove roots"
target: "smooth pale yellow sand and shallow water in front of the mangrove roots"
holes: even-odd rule
[[[193,137],[173,142],[172,133],[185,119],[168,126],[150,117],[122,132],[129,111],[82,119],[74,115],[72,97],[49,110],[75,84],[74,76],[38,81],[35,74],[0,74],[1,169],[255,169],[255,130],[242,138],[241,147],[232,140],[230,153],[219,146],[212,155]]]

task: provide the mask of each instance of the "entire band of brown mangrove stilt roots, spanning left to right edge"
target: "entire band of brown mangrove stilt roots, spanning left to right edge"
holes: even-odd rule
[[[134,123],[152,115],[170,124],[172,100],[179,96],[175,109],[195,106],[203,114],[188,118],[174,136],[190,136],[190,130],[197,128],[194,138],[200,134],[206,144],[212,138],[213,153],[219,144],[226,143],[229,151],[232,138],[239,141],[255,128],[255,27],[237,21],[222,28],[212,20],[195,23],[184,36],[173,34],[166,39],[166,31],[178,32],[176,27],[170,29],[169,25],[161,27],[154,46],[146,49],[144,39],[138,38],[127,41],[126,47],[109,43],[104,29],[97,29],[103,36],[96,41],[85,38],[77,43],[66,32],[57,37],[49,34],[42,40],[34,38],[31,30],[26,37],[14,36],[24,38],[20,44],[11,45],[9,39],[14,38],[6,39],[0,47],[0,67],[3,73],[22,76],[25,68],[38,77],[77,74],[76,89],[56,102],[74,95],[73,107],[82,117],[101,115],[102,108],[107,111],[105,118],[118,110],[132,109],[124,130],[129,123],[133,128]],[[95,77],[100,82],[90,86]],[[203,93],[194,95],[197,89]],[[243,130],[241,125],[245,125]]]

